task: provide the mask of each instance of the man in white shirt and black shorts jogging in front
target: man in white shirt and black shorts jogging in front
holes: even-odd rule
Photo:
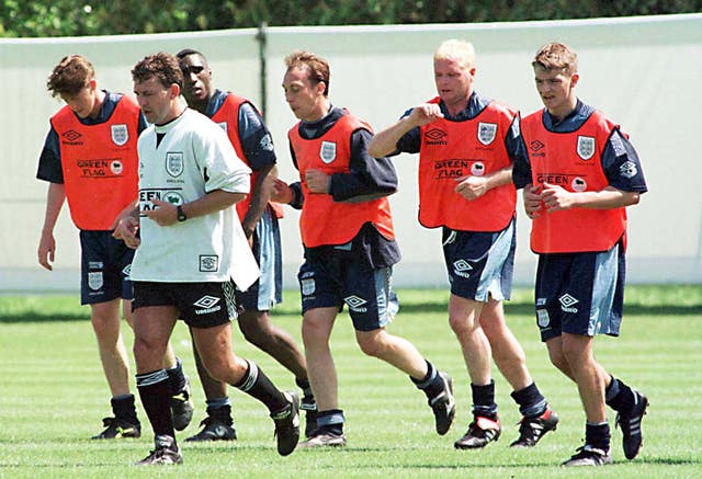
[[[180,318],[191,328],[210,375],[265,404],[278,452],[288,455],[299,437],[297,394],[281,392],[254,363],[231,351],[234,290],[247,289],[259,276],[234,206],[249,192],[251,170],[219,126],[181,103],[178,58],[147,56],[133,68],[132,79],[151,124],[138,141],[139,214],[124,218],[118,230],[136,248],[136,379],[156,443],[137,464],[182,463],[166,413],[168,375],[159,360]]]

